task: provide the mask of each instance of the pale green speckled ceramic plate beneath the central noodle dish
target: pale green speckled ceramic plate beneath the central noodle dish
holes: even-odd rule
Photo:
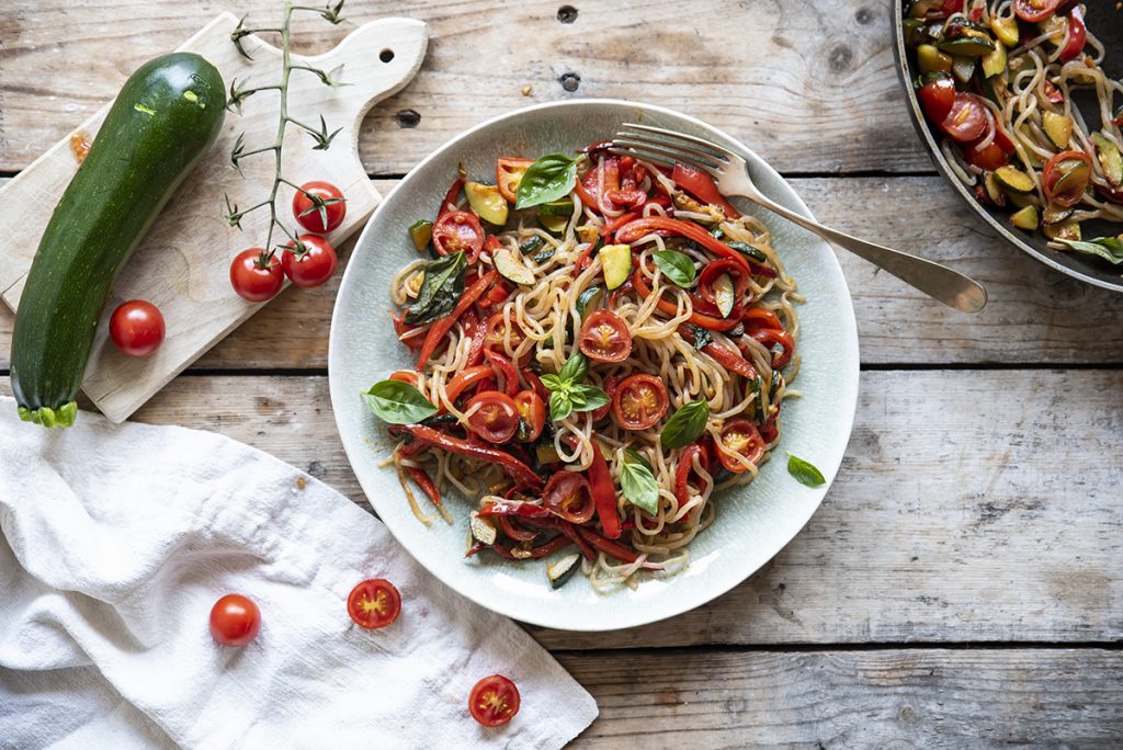
[[[433,575],[464,596],[523,622],[567,630],[614,630],[661,620],[696,607],[745,580],[807,522],[830,486],[850,437],[858,397],[858,336],[850,294],[830,246],[784,220],[763,216],[774,245],[807,302],[800,307],[803,366],[785,402],[778,455],[752,484],[715,495],[713,524],[691,546],[690,567],[672,577],[596,593],[582,576],[550,588],[541,561],[511,564],[493,555],[464,558],[467,516],[476,499],[447,499],[456,520],[424,527],[413,518],[392,467],[386,426],[359,393],[392,371],[410,368],[408,350],[390,322],[390,282],[417,257],[407,227],[430,217],[463,162],[469,175],[494,175],[497,156],[537,157],[612,136],[627,121],[648,122],[710,138],[743,156],[752,179],[774,200],[811,216],[795,191],[760,157],[723,132],[667,109],[626,101],[584,100],[542,104],[484,122],[419,164],[386,196],[359,237],[344,275],[331,320],[331,404],[347,456],[366,496],[398,540]],[[738,202],[734,200],[734,202]],[[827,484],[809,488],[787,473],[792,451],[815,464]]]

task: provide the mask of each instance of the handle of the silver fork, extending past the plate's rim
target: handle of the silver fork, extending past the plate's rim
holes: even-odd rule
[[[867,243],[851,235],[824,227],[804,216],[775,203],[764,195],[746,195],[769,211],[780,214],[809,231],[844,247],[859,258],[887,271],[904,283],[924,292],[949,308],[960,312],[978,312],[986,307],[986,289],[974,278],[932,260],[894,250],[892,247]]]

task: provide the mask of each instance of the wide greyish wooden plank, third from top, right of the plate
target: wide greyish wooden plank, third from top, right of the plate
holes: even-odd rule
[[[535,634],[553,649],[1123,638],[1121,390],[1123,371],[866,372],[836,485],[760,573],[668,622]],[[137,419],[223,432],[363,496],[322,377],[185,376]]]

